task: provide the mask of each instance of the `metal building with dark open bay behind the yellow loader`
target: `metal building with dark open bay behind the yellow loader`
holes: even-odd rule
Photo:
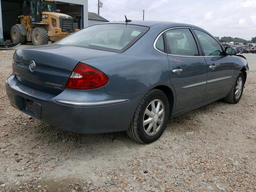
[[[74,28],[88,26],[88,0],[56,0],[61,13],[74,18]],[[24,0],[0,0],[0,39],[10,39],[11,27],[24,11]],[[22,12],[23,11],[23,12]]]

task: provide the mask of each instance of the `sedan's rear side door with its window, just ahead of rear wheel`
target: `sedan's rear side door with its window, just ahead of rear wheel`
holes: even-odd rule
[[[170,82],[176,91],[175,111],[196,105],[203,100],[207,70],[204,57],[190,28],[174,28],[165,32]]]

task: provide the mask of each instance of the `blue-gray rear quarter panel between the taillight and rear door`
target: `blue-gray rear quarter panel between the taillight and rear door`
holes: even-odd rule
[[[109,82],[108,94],[146,92],[158,85],[170,85],[169,62],[166,54],[154,49],[153,43],[160,30],[150,30],[123,53],[83,60],[104,72]]]

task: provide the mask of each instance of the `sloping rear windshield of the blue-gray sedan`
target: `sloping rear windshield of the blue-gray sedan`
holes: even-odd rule
[[[148,31],[148,27],[126,24],[100,24],[84,28],[56,44],[83,46],[123,52]]]

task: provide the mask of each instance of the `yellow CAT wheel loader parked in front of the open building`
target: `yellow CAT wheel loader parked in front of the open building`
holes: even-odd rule
[[[57,41],[79,29],[74,29],[71,16],[56,10],[52,0],[24,0],[30,4],[30,15],[20,15],[20,24],[11,28],[12,42],[25,44],[32,41],[34,45]]]

